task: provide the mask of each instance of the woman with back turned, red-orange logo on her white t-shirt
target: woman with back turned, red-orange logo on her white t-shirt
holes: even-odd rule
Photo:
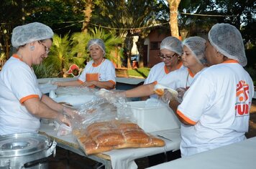
[[[201,72],[183,97],[170,107],[183,122],[180,151],[183,157],[246,139],[254,93],[239,30],[215,24],[206,42],[209,68]]]

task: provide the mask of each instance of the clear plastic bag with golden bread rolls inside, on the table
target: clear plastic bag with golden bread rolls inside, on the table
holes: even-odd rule
[[[120,148],[147,148],[165,145],[146,133],[133,119],[122,92],[99,90],[96,97],[78,108],[73,119],[73,135],[87,155]]]

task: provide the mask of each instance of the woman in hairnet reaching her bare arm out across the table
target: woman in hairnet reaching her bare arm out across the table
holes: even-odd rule
[[[166,74],[159,81],[143,84],[132,90],[124,91],[125,97],[144,97],[152,95],[155,93],[155,85],[162,84],[174,90],[179,89],[180,97],[182,98],[183,92],[191,85],[195,75],[205,68],[205,42],[206,40],[201,37],[189,37],[185,39],[183,44],[180,45],[183,47],[181,59],[184,67],[182,69],[177,69]]]

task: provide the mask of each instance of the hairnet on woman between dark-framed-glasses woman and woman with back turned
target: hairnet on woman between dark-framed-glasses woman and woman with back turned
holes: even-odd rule
[[[201,37],[188,37],[182,42],[183,46],[185,45],[188,49],[193,52],[201,64],[206,64],[206,57],[204,50],[206,48],[206,40]]]

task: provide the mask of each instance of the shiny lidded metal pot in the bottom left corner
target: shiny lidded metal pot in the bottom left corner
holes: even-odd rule
[[[47,157],[55,156],[57,143],[37,133],[0,136],[0,169],[48,168]]]

